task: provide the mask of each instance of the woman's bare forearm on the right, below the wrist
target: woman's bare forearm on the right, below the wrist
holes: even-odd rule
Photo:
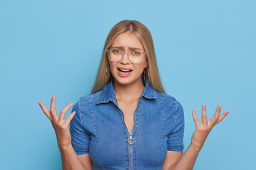
[[[169,170],[191,170],[196,162],[196,158],[200,152],[201,148],[194,145],[189,145],[186,152],[182,155],[181,159],[175,164],[175,166]]]

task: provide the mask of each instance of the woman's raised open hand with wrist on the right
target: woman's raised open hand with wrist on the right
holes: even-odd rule
[[[221,105],[215,111],[215,115],[210,120],[207,120],[206,116],[206,103],[203,103],[202,106],[202,123],[198,120],[196,116],[196,111],[193,109],[193,120],[196,124],[196,130],[193,133],[191,138],[191,145],[196,147],[196,149],[200,150],[203,147],[203,143],[206,141],[206,137],[208,136],[210,130],[212,130],[213,126],[219,123],[225,116],[229,113],[229,111],[225,111],[220,115]]]

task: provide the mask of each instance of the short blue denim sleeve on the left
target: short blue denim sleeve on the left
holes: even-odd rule
[[[71,144],[76,154],[87,154],[89,153],[90,136],[82,128],[80,100],[73,106],[73,111],[75,111],[75,116],[70,121]]]

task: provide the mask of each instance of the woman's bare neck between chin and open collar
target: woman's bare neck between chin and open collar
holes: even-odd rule
[[[119,84],[117,81],[113,83],[114,94],[117,100],[133,101],[138,99],[144,91],[144,84],[142,79],[134,81],[131,84]]]

